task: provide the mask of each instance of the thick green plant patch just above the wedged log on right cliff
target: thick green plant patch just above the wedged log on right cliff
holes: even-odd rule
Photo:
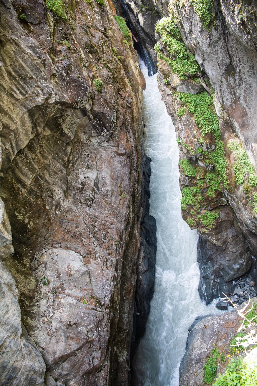
[[[156,32],[161,35],[160,41],[167,47],[169,57],[161,52],[159,44],[155,45],[157,56],[159,59],[168,62],[175,74],[181,79],[187,79],[188,77],[201,72],[198,63],[195,60],[195,56],[191,54],[186,47],[180,34],[180,30],[171,16],[158,21],[156,24]]]

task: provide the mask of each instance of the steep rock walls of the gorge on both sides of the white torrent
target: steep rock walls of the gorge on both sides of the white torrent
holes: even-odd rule
[[[129,385],[156,253],[135,48],[175,124],[200,296],[242,304],[257,290],[257,3],[2,0],[0,28],[0,384]],[[181,386],[205,384],[239,321],[191,328]]]

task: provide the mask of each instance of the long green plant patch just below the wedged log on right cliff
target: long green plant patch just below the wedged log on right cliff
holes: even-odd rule
[[[178,99],[186,106],[188,111],[193,114],[195,123],[200,128],[202,137],[212,133],[215,137],[216,146],[211,152],[203,152],[208,157],[217,171],[220,181],[228,187],[226,174],[227,161],[225,160],[224,144],[220,139],[220,128],[218,117],[213,106],[212,97],[203,91],[200,94],[177,93]],[[200,139],[198,139],[200,141]]]

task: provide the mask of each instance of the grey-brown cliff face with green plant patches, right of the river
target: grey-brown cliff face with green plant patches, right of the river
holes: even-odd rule
[[[256,3],[220,1],[201,14],[171,1],[169,10],[157,26],[159,86],[178,131],[182,216],[198,227],[209,303],[233,292],[256,257]]]

